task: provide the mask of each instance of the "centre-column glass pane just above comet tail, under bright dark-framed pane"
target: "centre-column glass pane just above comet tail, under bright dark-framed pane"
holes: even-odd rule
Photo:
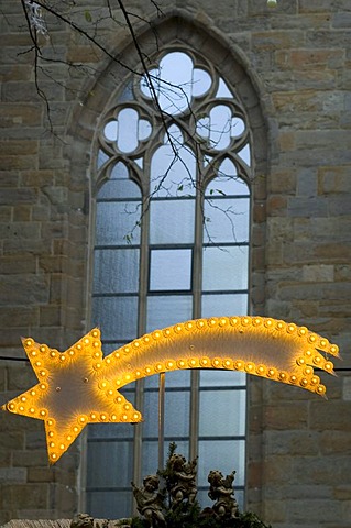
[[[146,331],[191,319],[191,295],[152,296],[147,298]]]

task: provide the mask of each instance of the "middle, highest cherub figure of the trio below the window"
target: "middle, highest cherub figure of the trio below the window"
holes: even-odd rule
[[[197,494],[196,488],[196,465],[197,459],[186,462],[182,454],[173,454],[169,459],[169,492],[173,505],[176,506],[187,499],[194,504]]]

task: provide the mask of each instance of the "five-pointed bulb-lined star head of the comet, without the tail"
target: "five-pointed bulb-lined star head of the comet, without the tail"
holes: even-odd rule
[[[32,338],[22,343],[39,383],[2,408],[44,421],[51,463],[88,424],[141,421],[141,414],[105,376],[98,329],[63,353]]]

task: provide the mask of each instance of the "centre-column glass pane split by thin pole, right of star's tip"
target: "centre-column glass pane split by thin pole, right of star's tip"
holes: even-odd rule
[[[189,433],[190,393],[172,391],[165,394],[165,435],[176,440]],[[158,438],[158,392],[144,393],[145,437]],[[176,419],[175,419],[176,417]]]

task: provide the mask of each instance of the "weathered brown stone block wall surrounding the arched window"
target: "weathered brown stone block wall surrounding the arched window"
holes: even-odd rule
[[[77,3],[99,18],[99,37],[112,55],[136,61],[129,32],[105,18],[106,2]],[[125,3],[162,22],[169,38],[185,24],[199,50],[227,47],[220,62],[226,75],[245,72],[237,82],[241,94],[245,86],[251,94],[243,102],[260,138],[253,311],[306,324],[339,344],[344,359],[336,365],[339,376],[326,380],[328,402],[250,380],[248,507],[274,528],[349,528],[350,2],[278,0],[273,11],[265,0],[164,0],[162,19],[152,2]],[[47,16],[50,40],[41,41],[40,59],[45,72],[37,70],[47,114],[21,2],[2,0],[0,8],[0,355],[22,360],[21,336],[65,350],[89,327],[90,144],[124,73]],[[91,28],[84,13],[75,20]],[[147,24],[135,24],[152,54],[153,34]],[[53,57],[85,70],[48,62]],[[33,382],[28,363],[1,360],[0,403]],[[0,425],[0,524],[72,517],[79,508],[79,442],[48,466],[42,424],[1,413]]]

